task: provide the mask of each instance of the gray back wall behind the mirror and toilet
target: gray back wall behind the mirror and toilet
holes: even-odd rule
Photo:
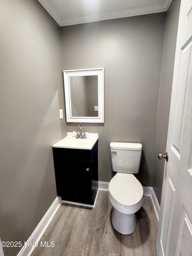
[[[152,186],[165,13],[62,27],[64,70],[103,68],[105,123],[99,134],[99,180],[112,178],[109,144],[143,144],[140,182]],[[79,124],[79,123],[78,123]],[[67,131],[77,129],[67,123]]]

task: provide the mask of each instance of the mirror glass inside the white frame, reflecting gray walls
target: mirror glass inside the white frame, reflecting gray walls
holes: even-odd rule
[[[98,76],[71,76],[72,116],[98,117]]]

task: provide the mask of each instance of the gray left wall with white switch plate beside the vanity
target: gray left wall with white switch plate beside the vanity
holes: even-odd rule
[[[57,196],[52,144],[67,132],[61,32],[36,0],[1,0],[0,13],[0,237],[24,243]]]

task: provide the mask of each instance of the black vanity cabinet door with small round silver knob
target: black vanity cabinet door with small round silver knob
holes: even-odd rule
[[[79,203],[92,203],[91,162],[65,160],[60,171],[61,199]]]

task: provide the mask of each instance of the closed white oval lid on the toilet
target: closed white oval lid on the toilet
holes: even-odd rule
[[[109,183],[112,197],[125,206],[134,206],[143,197],[143,186],[133,174],[117,173]]]

